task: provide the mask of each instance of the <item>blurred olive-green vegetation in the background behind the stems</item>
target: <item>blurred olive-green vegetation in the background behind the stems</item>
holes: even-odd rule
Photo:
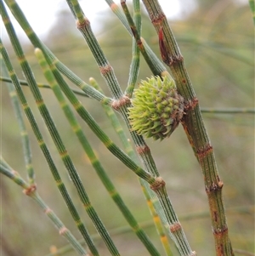
[[[235,1],[219,0],[213,1],[213,3],[212,1],[196,1],[194,11],[189,13],[189,10],[185,9],[185,3],[187,2],[183,2],[183,13],[180,18],[169,20],[169,24],[173,28],[179,48],[184,55],[186,68],[201,107],[254,107],[254,26],[249,6]],[[169,3],[169,8],[170,5],[171,3]],[[86,14],[86,9],[84,11]],[[59,60],[69,66],[85,82],[88,82],[89,77],[94,77],[104,88],[105,94],[110,96],[88,46],[76,30],[71,14],[67,9],[59,9],[58,12],[58,20],[48,31],[48,36],[43,40],[44,43]],[[124,90],[127,86],[129,65],[132,59],[132,38],[115,15],[111,13],[111,10],[105,12],[98,22],[101,26],[97,33],[99,43]],[[156,31],[151,26],[146,14],[143,14],[142,37],[160,56]],[[13,60],[15,71],[20,79],[24,79],[7,38],[3,39],[8,48],[8,54]],[[31,44],[24,43],[24,48],[26,57],[37,77],[37,82],[46,82],[37,65]],[[144,60],[141,60],[139,79],[150,76],[149,68]],[[91,168],[87,156],[83,153],[82,147],[59,109],[54,95],[49,89],[41,91],[88,191],[88,196],[105,226],[110,233],[111,230],[127,226],[122,214],[119,213],[94,173],[94,169]],[[96,233],[79,202],[76,189],[59,159],[47,128],[33,102],[29,88],[24,87],[24,92],[82,219],[86,222],[88,230],[92,234]],[[1,152],[5,160],[23,178],[26,178],[19,129],[4,82],[1,82],[0,93]],[[105,133],[109,134],[117,145],[121,145],[110,122],[105,117],[101,105],[87,98],[79,97],[79,99],[99,122]],[[204,113],[203,117],[215,151],[219,174],[224,181],[224,202],[232,245],[234,248],[254,253],[254,116],[246,113]],[[79,117],[77,118],[81,120]],[[94,150],[100,161],[124,201],[127,202],[127,206],[140,224],[144,224],[145,231],[158,250],[164,254],[137,177],[122,162],[116,160],[94,136],[93,132],[83,122],[81,123],[91,144],[94,145]],[[26,124],[31,139],[37,189],[48,206],[79,238],[81,236],[54,184],[27,121]],[[197,255],[214,255],[211,220],[201,169],[196,162],[183,128],[180,125],[171,138],[162,142],[149,139],[147,143],[150,145],[161,176],[167,182],[167,191],[192,249],[196,251]],[[22,194],[18,185],[3,175],[0,175],[0,191],[1,256],[39,256],[47,254],[52,245],[55,247],[65,246],[65,239],[59,236],[58,231],[55,230],[45,214],[29,197]],[[112,238],[122,255],[149,255],[131,231],[113,235]],[[96,244],[99,247],[99,253],[110,255],[102,241],[96,240]],[[174,248],[173,252],[176,252]],[[76,255],[76,253],[71,251],[65,255]]]

